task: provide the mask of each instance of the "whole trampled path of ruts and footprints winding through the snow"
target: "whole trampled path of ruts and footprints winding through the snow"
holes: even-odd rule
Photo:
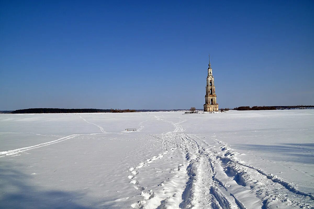
[[[168,152],[130,168],[130,183],[141,190],[139,200],[131,205],[133,208],[313,208],[312,194],[299,191],[292,183],[239,160],[238,153],[226,143],[210,138],[213,143],[209,144],[197,135],[182,133],[185,129],[180,124],[186,120],[174,123],[154,117],[173,124],[175,130],[151,136],[172,147],[172,151],[185,155],[186,163],[179,165],[174,178],[160,182],[165,188],[147,192],[136,178],[139,169]],[[182,184],[185,189],[178,189]]]

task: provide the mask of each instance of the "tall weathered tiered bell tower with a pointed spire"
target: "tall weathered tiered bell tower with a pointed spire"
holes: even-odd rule
[[[208,74],[207,74],[207,85],[206,85],[206,95],[205,95],[205,104],[204,104],[204,112],[213,112],[218,111],[218,104],[216,101],[216,93],[215,93],[215,84],[213,77],[213,69],[210,67],[210,58],[208,64]]]

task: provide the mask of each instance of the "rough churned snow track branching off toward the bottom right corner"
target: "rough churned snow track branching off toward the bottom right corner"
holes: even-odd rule
[[[239,160],[236,157],[239,153],[231,149],[228,144],[217,139],[208,139],[219,144],[220,151],[213,152],[211,155],[213,158],[220,159],[220,162],[217,161],[217,163],[223,168],[225,174],[229,177],[234,176],[236,183],[241,187],[247,186],[252,190],[256,190],[256,197],[263,202],[262,208],[266,209],[268,205],[271,207],[273,204],[280,205],[281,203],[300,208],[312,208],[312,194],[301,192],[288,181],[278,178],[273,174],[267,174],[262,169],[255,168]],[[210,146],[206,141],[204,143]],[[226,188],[226,182],[223,183],[220,181],[220,184]],[[230,185],[227,183],[228,186]]]

